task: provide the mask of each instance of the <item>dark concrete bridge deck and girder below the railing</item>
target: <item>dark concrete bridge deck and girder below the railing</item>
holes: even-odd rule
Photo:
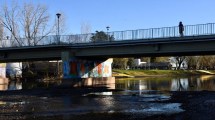
[[[215,35],[138,39],[99,43],[0,48],[1,62],[61,60],[64,53],[85,59],[215,54]]]

